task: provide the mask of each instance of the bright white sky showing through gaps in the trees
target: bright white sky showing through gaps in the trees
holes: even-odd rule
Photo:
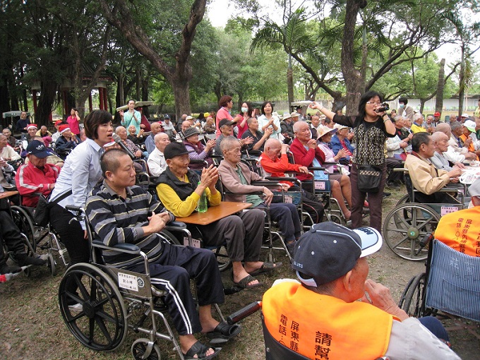
[[[260,4],[263,5],[265,9],[271,9],[272,0],[259,0]],[[270,16],[272,13],[279,13],[281,16],[281,12],[272,12],[270,11]],[[236,8],[232,1],[227,0],[212,0],[210,4],[207,6],[207,17],[210,19],[210,23],[212,23],[215,28],[224,27],[227,24],[227,20],[236,14]],[[274,19],[276,20],[276,19]],[[279,21],[281,18],[278,19]],[[445,44],[440,49],[436,51],[438,58],[445,58],[447,64],[450,64],[453,61],[457,61],[460,59],[460,51],[459,47],[452,45],[452,44]],[[480,50],[476,52],[474,56],[477,62],[480,62]]]

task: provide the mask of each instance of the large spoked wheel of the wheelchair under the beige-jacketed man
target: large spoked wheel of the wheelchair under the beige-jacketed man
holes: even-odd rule
[[[383,223],[383,239],[401,258],[425,260],[428,248],[419,251],[419,242],[428,232],[434,232],[440,217],[430,207],[404,203],[389,212]]]

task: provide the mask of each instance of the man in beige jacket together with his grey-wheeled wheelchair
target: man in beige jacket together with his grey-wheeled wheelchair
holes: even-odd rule
[[[412,154],[407,155],[404,180],[408,196],[385,217],[385,242],[398,256],[408,260],[425,260],[427,248],[419,247],[421,239],[434,232],[440,216],[464,207],[465,188],[459,182],[462,169],[450,172],[436,169],[431,157],[436,143],[428,133],[412,138]]]

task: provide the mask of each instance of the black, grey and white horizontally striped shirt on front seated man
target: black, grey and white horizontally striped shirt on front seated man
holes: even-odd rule
[[[92,190],[87,199],[86,212],[96,239],[102,239],[107,246],[128,243],[136,244],[147,254],[150,262],[162,254],[163,241],[159,234],[144,236],[142,227],[148,225],[149,212],[161,212],[162,204],[140,186],[126,188],[122,198],[103,181],[100,188]],[[173,220],[173,215],[170,216]],[[132,265],[142,260],[119,251],[103,251],[106,263],[116,267]]]

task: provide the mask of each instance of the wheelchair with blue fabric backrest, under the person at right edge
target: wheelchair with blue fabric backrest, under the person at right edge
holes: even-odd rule
[[[409,316],[452,319],[447,330],[467,330],[480,340],[480,258],[460,253],[426,234],[419,250],[428,246],[426,270],[412,277],[398,306]],[[459,318],[473,324],[458,323]],[[477,330],[477,331],[475,331]]]

